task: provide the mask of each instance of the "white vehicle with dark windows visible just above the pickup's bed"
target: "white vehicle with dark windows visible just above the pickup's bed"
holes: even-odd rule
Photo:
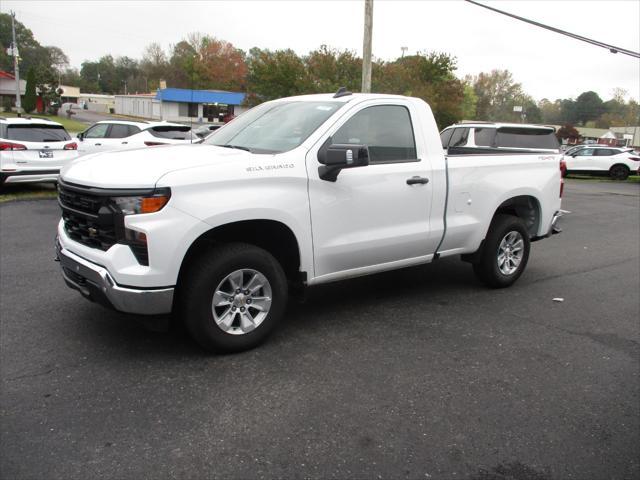
[[[445,128],[440,140],[449,153],[560,152],[555,129],[541,125],[459,123]]]

